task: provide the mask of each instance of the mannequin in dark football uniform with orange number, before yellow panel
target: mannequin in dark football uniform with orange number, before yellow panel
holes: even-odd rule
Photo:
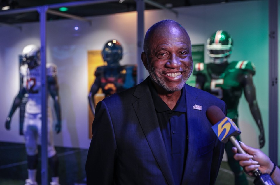
[[[120,65],[122,46],[117,40],[110,40],[104,45],[102,57],[107,62],[107,65],[97,67],[95,71],[95,82],[92,84],[88,95],[93,115],[95,114],[94,95],[99,88],[102,89],[106,97],[136,85],[136,66]]]

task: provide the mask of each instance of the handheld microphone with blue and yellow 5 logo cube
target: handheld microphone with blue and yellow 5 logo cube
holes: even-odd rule
[[[239,154],[247,154],[246,151],[241,148],[238,140],[234,137],[236,135],[239,135],[241,131],[234,124],[232,119],[225,116],[220,108],[215,105],[210,106],[206,110],[206,117],[213,125],[212,130],[221,142],[226,143],[228,142],[228,140],[230,140],[233,146],[237,148],[237,152]],[[252,173],[255,176],[255,185],[275,185],[270,175],[267,173],[262,174],[262,172],[258,168],[253,170]]]

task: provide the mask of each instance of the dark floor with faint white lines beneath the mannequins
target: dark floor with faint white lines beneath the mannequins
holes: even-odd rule
[[[87,149],[55,147],[59,157],[60,184],[85,185],[85,161]],[[39,148],[39,156],[41,156]],[[27,178],[27,161],[23,144],[0,142],[0,185],[24,185]],[[37,182],[41,182],[39,160]],[[249,185],[253,178],[248,177]],[[216,185],[234,185],[232,172],[222,162]],[[40,184],[40,183],[39,183]]]

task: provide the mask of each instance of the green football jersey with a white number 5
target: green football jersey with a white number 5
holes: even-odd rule
[[[204,78],[202,90],[222,99],[227,104],[227,117],[237,119],[238,103],[243,91],[244,75],[255,75],[255,66],[251,61],[241,60],[222,64],[195,64],[193,74]]]

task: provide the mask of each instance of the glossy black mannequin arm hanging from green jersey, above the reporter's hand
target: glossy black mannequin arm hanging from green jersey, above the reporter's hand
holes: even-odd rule
[[[259,144],[262,148],[265,144],[265,134],[263,130],[262,118],[260,114],[260,109],[256,100],[255,86],[253,84],[253,76],[251,74],[244,75],[244,95],[249,104],[251,114],[255,119],[255,122],[260,130]]]

